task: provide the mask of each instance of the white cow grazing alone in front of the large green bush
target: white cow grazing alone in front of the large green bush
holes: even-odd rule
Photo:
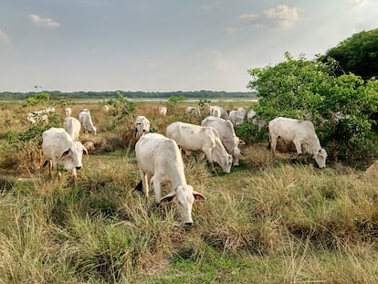
[[[302,153],[303,147],[305,153],[313,155],[320,168],[326,166],[327,153],[321,148],[311,121],[278,117],[269,121],[268,128],[271,148],[274,154],[276,153],[277,139],[280,137],[284,141],[294,142],[297,149],[297,157]]]

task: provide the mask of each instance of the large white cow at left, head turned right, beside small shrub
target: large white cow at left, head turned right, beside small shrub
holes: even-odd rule
[[[88,155],[87,149],[81,142],[74,142],[72,137],[63,128],[50,128],[42,133],[42,152],[48,161],[48,173],[56,169],[58,176],[58,163],[71,172],[71,177],[76,178],[76,170],[81,169],[81,158],[83,153]],[[45,163],[46,164],[46,163]]]

